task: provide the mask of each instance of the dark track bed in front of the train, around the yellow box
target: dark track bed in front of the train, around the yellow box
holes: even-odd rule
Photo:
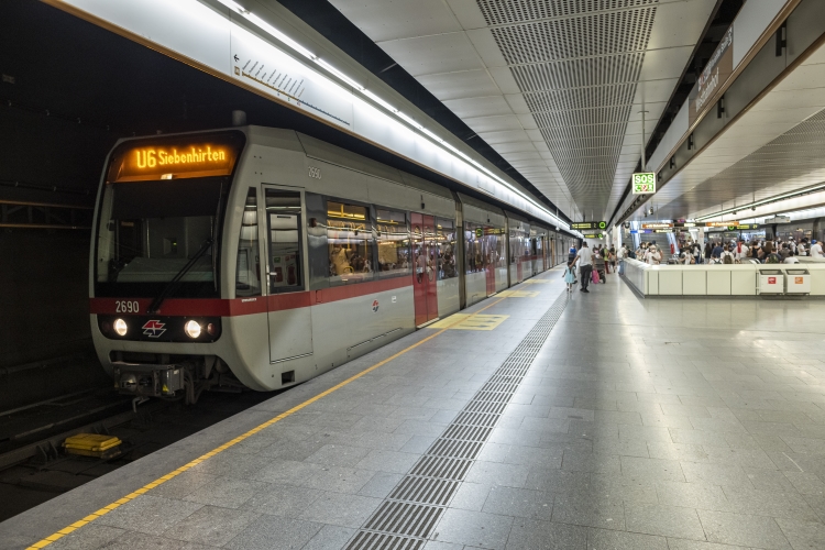
[[[195,406],[132,399],[110,389],[77,392],[0,413],[0,521],[106,475],[212,424],[272,397],[273,393],[206,393]],[[78,457],[63,441],[81,432],[123,441],[110,459]]]

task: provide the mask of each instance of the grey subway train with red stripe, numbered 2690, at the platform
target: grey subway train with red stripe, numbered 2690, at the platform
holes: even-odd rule
[[[90,321],[120,393],[197,402],[309,380],[564,260],[515,212],[292,130],[119,141]]]

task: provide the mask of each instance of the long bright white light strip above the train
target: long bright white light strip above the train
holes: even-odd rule
[[[389,111],[389,116],[396,119],[396,122],[404,123],[407,125],[413,127],[414,130],[418,131],[419,133],[424,134],[426,138],[428,138],[430,141],[432,141],[436,145],[443,148],[448,154],[455,157],[459,162],[462,162],[464,164],[470,164],[470,167],[481,172],[482,174],[486,175],[487,177],[492,178],[494,182],[505,186],[507,189],[509,189],[512,193],[516,194],[517,196],[521,197],[524,200],[532,205],[535,208],[540,210],[542,213],[544,213],[547,217],[549,217],[551,220],[554,220],[554,224],[558,227],[564,229],[565,231],[570,231],[574,234],[578,234],[581,237],[581,234],[578,231],[571,231],[570,226],[564,223],[560,218],[558,218],[556,215],[547,210],[543,206],[541,206],[539,202],[536,201],[536,199],[525,195],[521,190],[514,187],[512,184],[509,184],[507,180],[503,179],[495,173],[493,173],[491,169],[479,163],[477,161],[471,158],[465,153],[459,151],[455,146],[451,145],[450,143],[446,142],[441,138],[439,138],[436,133],[432,131],[426,129],[424,125],[419,124],[417,121],[415,121],[409,116],[402,112],[399,109],[394,108],[391,103],[387,101],[381,99],[378,96],[376,96],[374,92],[367,90],[365,87],[358,84],[354,79],[346,76],[346,74],[342,73],[341,70],[337,69],[329,63],[321,59],[319,56],[312,54],[307,48],[288,37],[283,32],[278,31],[274,26],[272,26],[270,23],[265,22],[260,16],[252,13],[250,10],[246,10],[242,6],[240,6],[234,0],[218,0],[221,4],[226,6],[230,10],[234,11],[235,13],[240,14],[242,18],[246,19],[249,22],[253,23],[255,26],[261,29],[262,31],[266,32],[272,36],[273,38],[277,40],[278,42],[285,44],[289,48],[296,51],[307,59],[311,61],[316,65],[322,67],[326,72],[328,72],[331,75],[334,75],[337,78],[339,78],[341,81],[345,82],[348,86],[351,86],[354,90],[356,90],[359,94],[364,96],[365,98],[370,99],[371,101],[375,102],[376,105],[381,106],[383,109]],[[334,82],[333,82],[334,84]]]

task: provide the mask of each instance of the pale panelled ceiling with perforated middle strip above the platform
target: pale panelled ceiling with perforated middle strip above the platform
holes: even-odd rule
[[[565,213],[607,219],[716,0],[330,0]],[[644,106],[644,107],[642,107]]]

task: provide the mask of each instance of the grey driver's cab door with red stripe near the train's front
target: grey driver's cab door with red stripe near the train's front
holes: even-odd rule
[[[264,186],[270,362],[312,353],[312,314],[306,300],[301,194]]]

